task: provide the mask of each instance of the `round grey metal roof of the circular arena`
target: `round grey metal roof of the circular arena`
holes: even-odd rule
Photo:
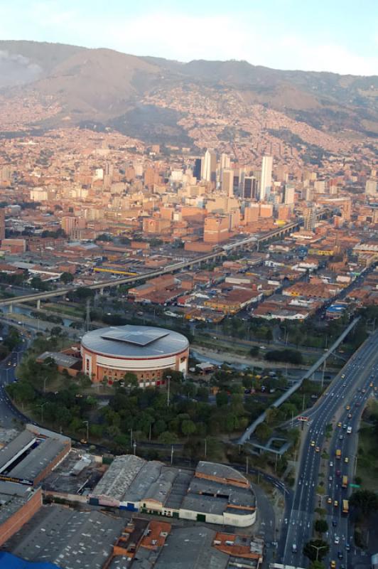
[[[158,358],[173,356],[189,347],[183,334],[153,326],[110,326],[87,332],[82,346],[103,356]]]

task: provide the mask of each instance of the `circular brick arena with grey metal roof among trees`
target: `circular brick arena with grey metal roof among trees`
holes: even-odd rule
[[[182,334],[153,326],[110,326],[81,341],[82,371],[95,383],[122,381],[134,373],[141,387],[161,385],[166,369],[188,370],[189,342]]]

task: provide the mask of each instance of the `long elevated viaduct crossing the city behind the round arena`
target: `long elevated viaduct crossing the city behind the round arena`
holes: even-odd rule
[[[317,216],[323,216],[323,212],[318,213]],[[109,287],[119,287],[119,285],[132,285],[140,280],[149,280],[154,277],[161,277],[161,275],[167,275],[169,273],[174,273],[183,269],[188,269],[190,267],[200,266],[202,262],[216,261],[220,260],[222,257],[227,257],[229,252],[247,249],[249,247],[259,248],[260,243],[266,243],[267,241],[280,238],[290,233],[292,230],[299,228],[303,223],[303,220],[296,220],[291,223],[286,223],[279,228],[273,229],[260,235],[259,237],[249,237],[234,243],[228,243],[227,245],[220,245],[216,250],[206,253],[205,255],[199,255],[193,259],[183,260],[175,262],[172,265],[167,265],[158,270],[149,271],[146,273],[141,273],[140,275],[131,275],[128,277],[121,277],[119,279],[104,280],[102,282],[96,282],[92,285],[87,285],[86,288],[92,290],[99,290],[100,294],[104,292],[105,288]],[[65,297],[69,292],[74,292],[77,289],[75,286],[63,287],[55,290],[49,290],[45,292],[34,292],[32,294],[25,294],[20,297],[12,297],[9,299],[0,299],[0,307],[10,307],[10,312],[13,304],[20,304],[23,302],[37,302],[37,309],[41,307],[41,300],[55,298],[55,297]]]

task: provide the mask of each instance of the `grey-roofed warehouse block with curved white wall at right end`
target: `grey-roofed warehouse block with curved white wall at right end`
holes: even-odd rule
[[[237,527],[256,521],[248,480],[231,467],[205,461],[193,472],[129,454],[116,457],[90,504]]]

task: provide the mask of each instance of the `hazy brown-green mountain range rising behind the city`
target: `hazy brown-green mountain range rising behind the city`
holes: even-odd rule
[[[190,137],[177,124],[186,111],[177,101],[170,106],[177,90],[202,90],[220,107],[222,92],[232,92],[247,107],[263,105],[320,130],[378,136],[377,75],[276,70],[236,60],[183,63],[107,48],[0,41],[0,90],[8,102],[22,97],[54,100],[59,111],[49,117],[49,126],[67,120],[101,122],[127,134],[131,119],[134,135],[140,130],[144,139],[153,139],[159,131],[171,132],[175,143],[180,133],[185,144]],[[157,96],[158,105],[151,105],[148,97]],[[170,112],[162,112],[164,108]],[[151,136],[148,121],[154,125]]]

